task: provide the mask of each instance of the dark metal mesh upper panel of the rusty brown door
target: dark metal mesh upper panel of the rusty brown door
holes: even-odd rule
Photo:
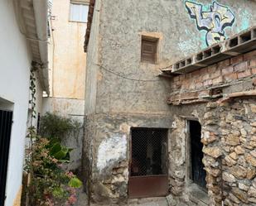
[[[131,176],[167,175],[167,129],[133,128]]]

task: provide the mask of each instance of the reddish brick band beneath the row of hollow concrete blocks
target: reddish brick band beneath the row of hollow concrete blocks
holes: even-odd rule
[[[244,79],[255,83],[255,76],[256,50],[174,77],[171,81],[171,97],[168,103],[207,102],[209,98],[225,95],[216,91],[218,88],[239,84]]]

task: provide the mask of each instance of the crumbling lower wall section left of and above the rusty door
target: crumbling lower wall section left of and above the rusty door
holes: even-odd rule
[[[90,198],[100,204],[126,204],[131,127],[171,127],[171,117],[152,114],[97,114]],[[89,141],[89,140],[88,140]]]

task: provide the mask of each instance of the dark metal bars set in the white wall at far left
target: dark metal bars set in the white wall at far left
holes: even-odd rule
[[[4,205],[12,112],[0,110],[0,205]]]

